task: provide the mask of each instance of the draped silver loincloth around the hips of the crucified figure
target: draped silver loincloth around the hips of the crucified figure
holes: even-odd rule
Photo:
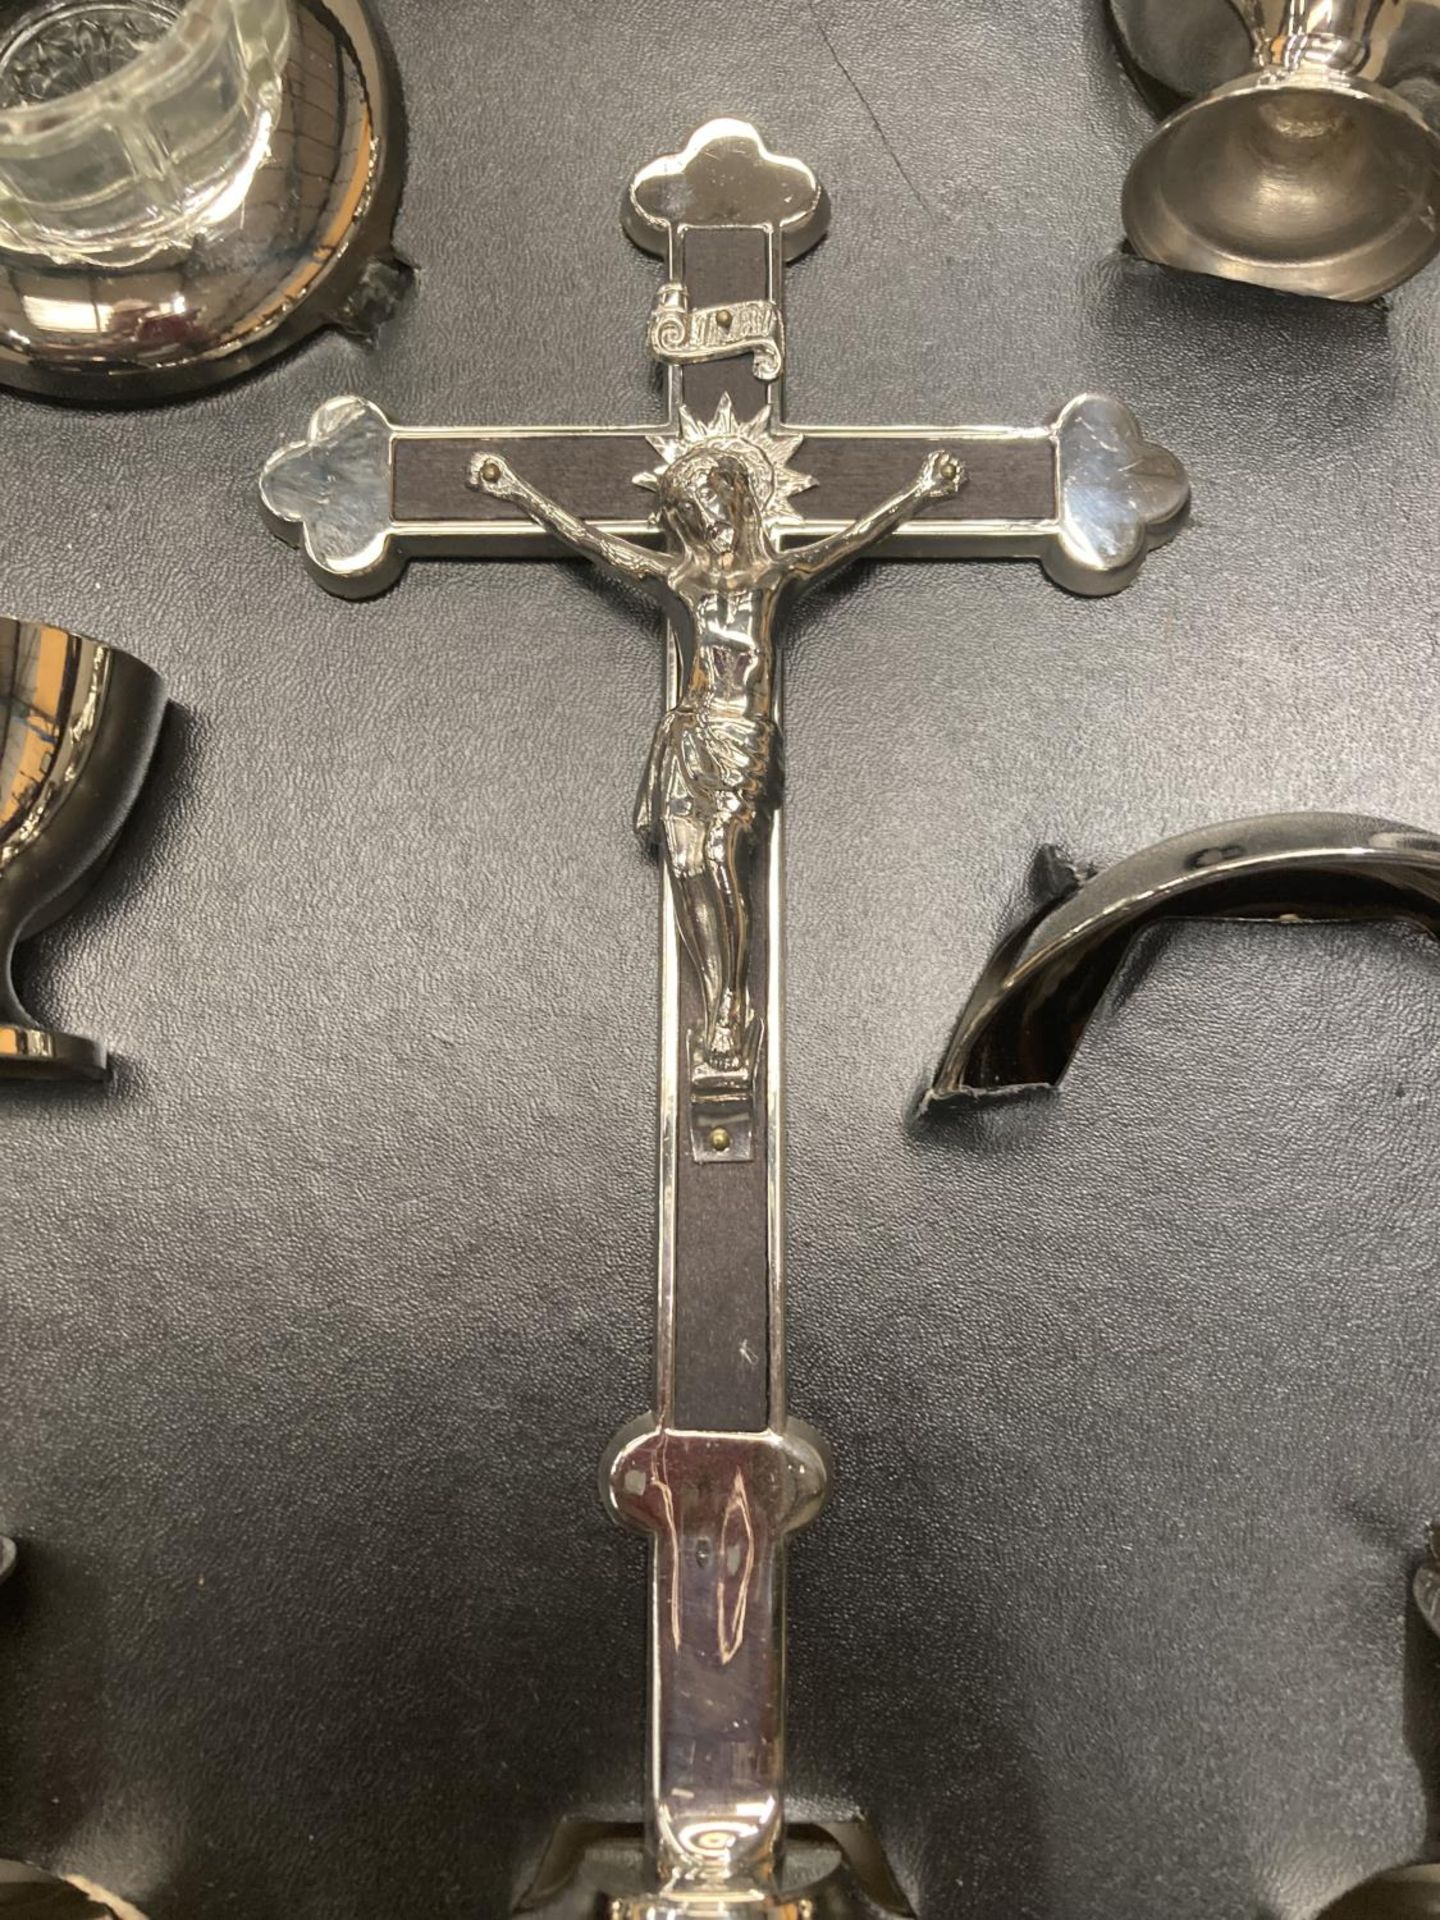
[[[636,833],[659,847],[666,820],[753,831],[774,812],[783,741],[774,720],[672,707],[651,745],[636,804]]]

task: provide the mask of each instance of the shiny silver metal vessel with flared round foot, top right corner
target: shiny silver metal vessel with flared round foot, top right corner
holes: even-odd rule
[[[1165,123],[1125,232],[1167,267],[1373,300],[1440,250],[1434,0],[1108,0]]]

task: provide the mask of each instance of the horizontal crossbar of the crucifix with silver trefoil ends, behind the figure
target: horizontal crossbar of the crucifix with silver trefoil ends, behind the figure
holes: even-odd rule
[[[676,422],[680,424],[680,422]],[[772,420],[772,426],[780,424]],[[653,465],[653,426],[396,426],[371,399],[324,401],[303,440],[265,468],[276,532],[330,593],[371,599],[411,559],[553,559],[559,541],[468,486],[480,451],[543,472],[580,518],[605,534],[660,543],[655,515],[632,493]],[[814,488],[795,501],[785,545],[837,534],[885,482],[952,451],[968,488],[916,511],[881,541],[891,561],[1035,559],[1073,593],[1127,588],[1144,557],[1185,522],[1185,468],[1146,440],[1131,409],[1083,394],[1044,426],[791,426]],[[628,497],[630,495],[630,497]],[[582,511],[599,501],[601,511]]]

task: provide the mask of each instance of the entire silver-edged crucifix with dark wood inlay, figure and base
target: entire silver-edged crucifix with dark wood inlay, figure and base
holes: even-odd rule
[[[781,737],[791,603],[862,553],[1039,559],[1110,593],[1188,505],[1179,461],[1116,399],[1048,426],[793,426],[783,269],[828,225],[808,167],[710,121],[643,167],[622,219],[666,261],[649,324],[662,428],[397,428],[328,401],[261,493],[330,591],[419,555],[576,551],[668,620],[668,699],[637,828],[664,854],[655,1411],[607,1455],[653,1540],[643,1845],[566,1822],[528,1905],[609,1920],[906,1912],[866,1832],[785,1828],[783,1544],[828,1455],[785,1409]]]

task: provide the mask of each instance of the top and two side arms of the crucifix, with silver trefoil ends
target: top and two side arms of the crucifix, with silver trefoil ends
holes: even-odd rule
[[[507,457],[536,493],[607,538],[657,547],[637,474],[660,447],[680,451],[716,424],[722,405],[732,424],[764,413],[785,459],[804,449],[808,486],[780,503],[787,547],[843,532],[937,451],[964,461],[964,492],[916,501],[881,557],[1027,557],[1075,593],[1116,593],[1181,528],[1185,468],[1106,394],[1081,394],[1041,426],[781,426],[785,267],[824,236],[829,207],[814,175],[743,121],[712,121],[641,169],[622,215],[630,238],[666,261],[647,334],[670,372],[662,430],[415,428],[372,401],[330,399],[261,480],[271,524],[303,549],[321,586],[363,599],[394,586],[411,559],[553,553],[553,526],[472,484],[476,453]]]

